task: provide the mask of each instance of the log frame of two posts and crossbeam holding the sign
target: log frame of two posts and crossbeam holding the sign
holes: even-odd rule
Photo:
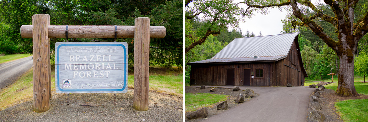
[[[134,37],[133,107],[148,110],[149,38],[163,38],[166,28],[149,26],[148,17],[135,18],[134,26],[68,26],[68,38],[132,38]],[[133,28],[134,27],[134,28]],[[67,38],[66,26],[50,25],[50,15],[35,14],[32,25],[21,26],[21,36],[33,40],[33,111],[50,108],[51,69],[50,38]],[[134,35],[134,36],[133,36]]]

